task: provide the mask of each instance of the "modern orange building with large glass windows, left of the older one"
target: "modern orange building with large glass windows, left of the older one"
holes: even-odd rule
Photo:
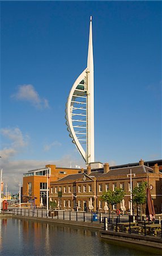
[[[47,179],[49,184],[50,181],[76,174],[78,171],[78,168],[62,168],[52,164],[47,164],[45,168],[28,171],[23,176],[23,202],[34,203],[37,207],[46,205]]]

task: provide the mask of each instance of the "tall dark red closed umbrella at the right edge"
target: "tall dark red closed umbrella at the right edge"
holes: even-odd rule
[[[155,220],[155,209],[151,198],[150,189],[147,188],[146,220]]]

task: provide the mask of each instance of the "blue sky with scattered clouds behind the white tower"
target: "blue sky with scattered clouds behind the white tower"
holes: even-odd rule
[[[1,1],[1,166],[18,190],[45,164],[84,167],[65,104],[93,16],[95,160],[161,159],[160,1]]]

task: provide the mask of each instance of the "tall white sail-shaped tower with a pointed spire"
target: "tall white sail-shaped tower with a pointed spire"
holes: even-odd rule
[[[89,25],[87,68],[74,82],[66,103],[66,125],[87,164],[95,162],[94,144],[94,71],[92,16]]]

